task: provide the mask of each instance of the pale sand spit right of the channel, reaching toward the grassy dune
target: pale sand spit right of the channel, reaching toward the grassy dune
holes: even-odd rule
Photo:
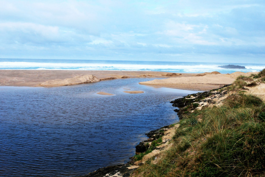
[[[153,81],[140,82],[139,84],[207,91],[215,88],[220,88],[227,84],[232,84],[238,76],[250,76],[251,74],[256,73],[234,72],[232,74],[216,74],[215,72],[212,72],[212,74],[208,73],[200,77],[191,76],[175,77],[169,79],[155,79]]]

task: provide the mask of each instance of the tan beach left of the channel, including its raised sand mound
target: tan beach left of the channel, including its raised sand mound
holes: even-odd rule
[[[172,75],[172,73],[156,71],[0,70],[0,86],[47,87],[84,84],[110,79],[172,77],[166,75]],[[184,77],[192,75],[194,74],[182,74]]]

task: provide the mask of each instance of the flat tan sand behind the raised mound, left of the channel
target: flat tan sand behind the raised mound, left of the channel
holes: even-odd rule
[[[149,75],[154,78],[168,78],[165,76],[167,74],[172,73],[161,71],[0,70],[0,86],[38,87],[46,81],[64,80],[85,75],[93,75],[104,81],[110,79],[140,78],[142,75]],[[195,76],[195,74],[182,74],[182,76]]]

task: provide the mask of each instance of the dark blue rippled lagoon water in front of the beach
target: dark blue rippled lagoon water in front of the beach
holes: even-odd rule
[[[178,121],[169,101],[196,92],[138,84],[147,80],[0,87],[0,176],[78,176],[127,162],[145,133]]]

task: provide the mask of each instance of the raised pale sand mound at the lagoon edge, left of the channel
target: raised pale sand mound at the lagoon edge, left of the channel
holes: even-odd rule
[[[67,79],[55,79],[46,81],[40,86],[44,87],[52,87],[52,86],[69,86],[69,85],[76,85],[76,84],[86,84],[86,83],[92,83],[92,82],[99,82],[100,79],[93,75],[85,75],[85,76],[76,76],[73,78],[67,78]]]

